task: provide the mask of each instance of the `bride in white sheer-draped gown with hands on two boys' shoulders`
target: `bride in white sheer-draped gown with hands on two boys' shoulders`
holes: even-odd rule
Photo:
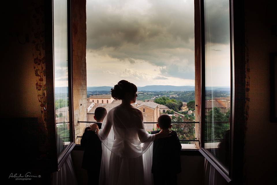
[[[119,81],[111,94],[122,103],[108,112],[103,129],[99,130],[97,124],[91,125],[102,141],[99,184],[152,184],[149,147],[155,139],[169,137],[169,130],[149,134],[144,129],[142,112],[131,105],[136,102],[136,92],[134,84]]]

